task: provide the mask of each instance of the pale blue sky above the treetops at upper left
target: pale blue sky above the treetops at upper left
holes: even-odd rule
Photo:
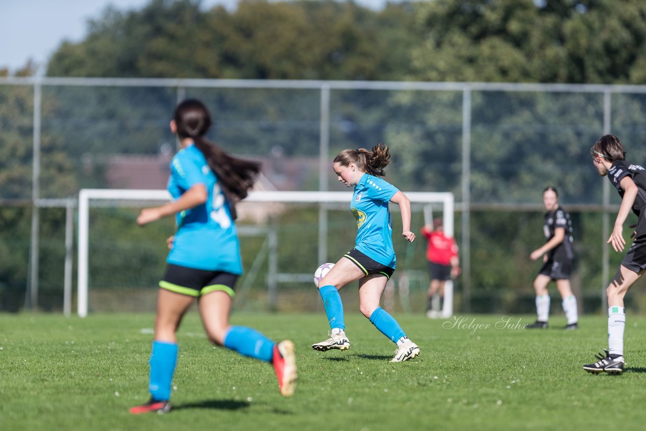
[[[355,0],[380,8],[386,0]],[[0,0],[0,68],[14,71],[28,59],[44,65],[64,40],[85,37],[88,19],[96,19],[108,6],[140,9],[149,0]],[[234,8],[236,0],[202,0],[202,5]],[[43,72],[43,68],[39,70]]]

